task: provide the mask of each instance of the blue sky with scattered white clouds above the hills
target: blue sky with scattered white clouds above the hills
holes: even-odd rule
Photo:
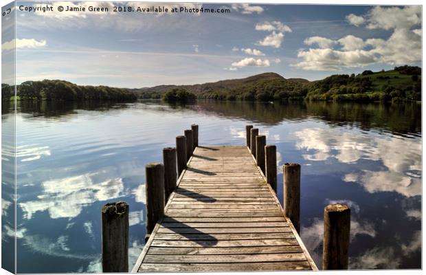
[[[16,43],[17,84],[61,79],[140,88],[264,72],[318,80],[421,65],[420,6],[45,1],[18,7],[46,4],[54,12],[16,10],[16,41],[3,34],[3,56]],[[58,12],[60,5],[109,12]],[[230,12],[112,12],[113,5]]]

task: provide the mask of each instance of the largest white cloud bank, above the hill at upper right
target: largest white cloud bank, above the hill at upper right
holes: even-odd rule
[[[300,50],[302,59],[294,64],[306,70],[339,70],[347,67],[363,67],[372,63],[403,65],[421,61],[421,7],[372,8],[365,17],[349,14],[346,19],[352,25],[366,23],[366,28],[393,30],[388,39],[367,39],[363,41],[353,35],[344,36],[337,41],[314,36],[305,43],[317,43],[321,49]],[[412,30],[412,28],[416,28]],[[336,42],[341,50],[333,49]],[[370,46],[368,50],[364,47]]]

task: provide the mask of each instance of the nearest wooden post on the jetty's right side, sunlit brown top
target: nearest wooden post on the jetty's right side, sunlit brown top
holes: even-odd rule
[[[350,241],[350,209],[344,204],[324,208],[323,270],[347,270]]]

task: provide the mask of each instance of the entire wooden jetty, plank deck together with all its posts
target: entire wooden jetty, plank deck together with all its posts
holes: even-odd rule
[[[198,125],[146,165],[146,245],[132,272],[318,270],[300,239],[300,165],[247,125],[247,146],[200,146]],[[128,205],[102,208],[102,269],[128,271]],[[350,209],[324,208],[323,268],[348,268]]]

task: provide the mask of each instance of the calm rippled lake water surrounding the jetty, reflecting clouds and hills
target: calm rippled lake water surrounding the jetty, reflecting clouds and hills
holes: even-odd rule
[[[1,206],[3,245],[12,251],[8,108]],[[100,209],[117,200],[131,209],[133,267],[144,246],[144,166],[161,162],[162,148],[192,123],[203,145],[244,145],[245,125],[254,124],[276,144],[280,166],[301,164],[301,236],[318,267],[324,206],[339,201],[352,210],[350,268],[421,268],[420,104],[21,102],[18,272],[101,272]],[[278,183],[282,201],[281,167]]]

